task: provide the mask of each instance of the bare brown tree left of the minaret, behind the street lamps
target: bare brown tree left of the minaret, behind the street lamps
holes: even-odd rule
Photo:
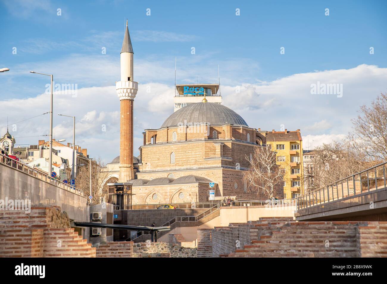
[[[93,199],[91,202],[99,204],[103,197],[107,194],[106,180],[109,172],[101,171],[105,165],[101,158],[91,162],[91,195]],[[83,190],[84,196],[90,195],[90,165],[89,163],[79,166],[75,184],[78,189]]]

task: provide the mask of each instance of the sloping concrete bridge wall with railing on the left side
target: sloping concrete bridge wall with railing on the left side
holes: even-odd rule
[[[89,221],[90,209],[82,190],[52,179],[46,172],[1,154],[0,199],[4,202],[30,200],[33,205],[60,206],[62,211],[67,212],[71,221]]]

